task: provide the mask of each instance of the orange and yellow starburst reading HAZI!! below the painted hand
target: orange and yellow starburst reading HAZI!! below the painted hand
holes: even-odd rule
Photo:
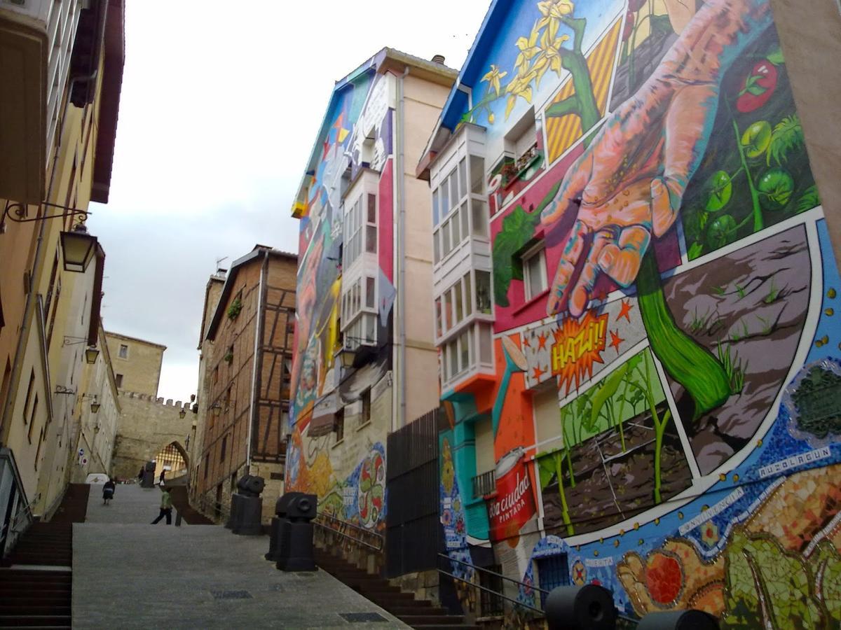
[[[552,374],[558,376],[558,389],[565,385],[567,393],[581,381],[593,377],[593,365],[604,363],[601,353],[605,349],[607,315],[596,317],[587,312],[581,321],[566,318],[554,332],[552,345]]]

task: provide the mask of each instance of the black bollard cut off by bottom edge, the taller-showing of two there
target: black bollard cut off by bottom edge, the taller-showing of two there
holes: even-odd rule
[[[546,596],[549,630],[614,630],[616,606],[604,586],[558,586]]]

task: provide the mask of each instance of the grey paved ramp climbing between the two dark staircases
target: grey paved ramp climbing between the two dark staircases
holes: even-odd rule
[[[214,525],[151,526],[161,493],[117,486],[73,526],[74,628],[406,628],[324,571],[284,573],[264,536]],[[350,613],[350,617],[342,617]],[[377,622],[351,622],[368,613]]]

